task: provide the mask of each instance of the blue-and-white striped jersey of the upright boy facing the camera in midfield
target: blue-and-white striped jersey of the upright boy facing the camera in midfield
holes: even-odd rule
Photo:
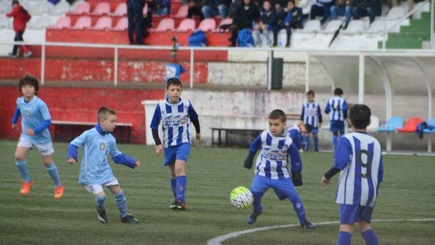
[[[187,99],[180,99],[178,103],[161,100],[156,106],[151,129],[158,129],[162,121],[164,139],[163,146],[173,147],[183,143],[190,143],[190,120],[198,119],[198,114],[193,109],[192,103]]]

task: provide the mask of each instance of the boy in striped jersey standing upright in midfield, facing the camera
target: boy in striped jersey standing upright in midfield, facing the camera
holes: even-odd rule
[[[196,140],[201,139],[198,114],[189,100],[180,98],[181,92],[181,81],[177,78],[168,79],[166,84],[168,97],[157,104],[150,125],[156,143],[156,154],[160,155],[164,150],[164,165],[168,166],[174,195],[174,203],[170,208],[174,210],[187,210],[185,165],[190,153],[190,121],[196,129]],[[159,138],[160,121],[164,131],[163,144]]]

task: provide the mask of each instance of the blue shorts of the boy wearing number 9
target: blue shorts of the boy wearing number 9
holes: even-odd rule
[[[373,207],[340,204],[340,224],[353,224],[358,221],[370,223]]]

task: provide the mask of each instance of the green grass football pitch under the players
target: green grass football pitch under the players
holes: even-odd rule
[[[249,187],[252,170],[242,167],[247,149],[193,147],[187,165],[189,210],[168,208],[173,201],[168,171],[153,147],[119,145],[142,165],[130,169],[112,164],[127,196],[136,225],[122,224],[113,196],[106,192],[108,224],[96,218],[94,198],[78,184],[79,164],[66,162],[66,143],[56,143],[54,159],[65,187],[62,199],[53,198],[53,185],[39,153],[29,152],[27,161],[35,182],[28,196],[20,196],[21,177],[14,165],[16,142],[0,141],[0,244],[207,244],[220,235],[252,228],[298,223],[288,200],[279,201],[272,190],[262,199],[263,214],[255,225],[246,223],[250,210],[235,210],[229,203],[232,188]],[[330,153],[302,153],[304,186],[297,190],[307,218],[320,223],[338,220],[334,201],[337,177],[331,185],[319,185],[332,164]],[[384,182],[373,219],[435,218],[435,158],[384,156]],[[435,221],[373,222],[380,244],[435,244]],[[356,227],[355,227],[356,228]],[[338,225],[322,225],[306,231],[299,227],[246,234],[223,244],[335,244]],[[363,240],[354,232],[352,244]]]

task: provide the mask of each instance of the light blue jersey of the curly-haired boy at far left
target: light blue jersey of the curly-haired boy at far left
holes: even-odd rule
[[[51,143],[51,136],[48,127],[45,127],[41,132],[37,128],[45,121],[50,121],[51,116],[45,102],[37,96],[26,102],[24,97],[17,98],[17,109],[22,115],[21,119],[21,137],[30,140],[34,144],[45,145]],[[18,114],[19,116],[19,114]],[[18,119],[18,118],[17,118]],[[35,135],[29,136],[26,134],[28,129],[33,129]]]

